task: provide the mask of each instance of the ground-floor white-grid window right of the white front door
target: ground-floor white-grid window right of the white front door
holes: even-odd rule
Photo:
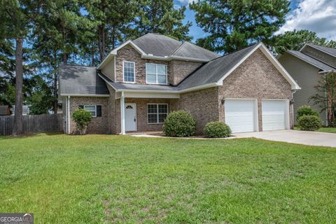
[[[168,104],[148,104],[147,118],[149,124],[165,123],[168,115]]]

